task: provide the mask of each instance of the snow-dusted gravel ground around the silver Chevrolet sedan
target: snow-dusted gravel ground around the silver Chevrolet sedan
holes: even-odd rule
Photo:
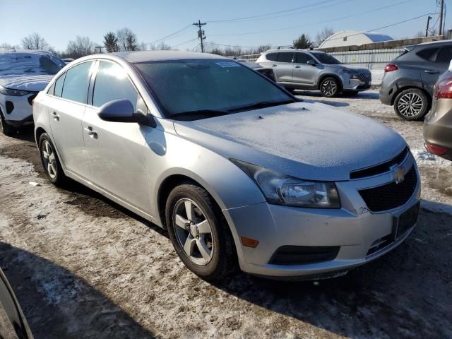
[[[406,242],[315,284],[239,273],[210,285],[160,228],[75,182],[49,184],[31,130],[0,135],[0,265],[35,338],[452,338],[451,163],[424,153],[422,123],[398,119],[375,90],[297,94],[406,138],[424,199]]]

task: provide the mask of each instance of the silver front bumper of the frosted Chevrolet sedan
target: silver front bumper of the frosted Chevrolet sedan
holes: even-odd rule
[[[415,166],[410,157],[410,163]],[[416,168],[417,171],[417,168]],[[403,206],[383,213],[369,212],[357,189],[391,182],[386,173],[368,179],[338,182],[340,209],[314,209],[258,203],[225,210],[225,215],[237,231],[237,236],[257,239],[256,248],[240,246],[239,263],[245,272],[278,278],[319,278],[342,275],[396,248],[412,232],[407,230],[398,239],[378,247],[382,239],[393,233],[393,217],[420,201],[420,179],[417,172],[415,193]],[[236,239],[237,240],[237,239]],[[339,246],[333,260],[295,265],[270,263],[281,246]]]

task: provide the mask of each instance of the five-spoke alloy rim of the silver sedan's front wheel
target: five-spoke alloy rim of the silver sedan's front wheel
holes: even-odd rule
[[[174,206],[172,217],[174,234],[186,256],[197,265],[207,265],[215,247],[206,214],[194,201],[183,198]]]

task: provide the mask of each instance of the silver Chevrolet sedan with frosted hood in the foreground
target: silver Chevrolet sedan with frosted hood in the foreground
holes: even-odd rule
[[[345,274],[398,246],[420,201],[395,131],[302,102],[214,54],[99,54],[33,105],[50,182],[70,177],[167,229],[207,280]]]

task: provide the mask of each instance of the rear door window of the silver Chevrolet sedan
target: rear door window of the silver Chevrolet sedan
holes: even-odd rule
[[[93,61],[83,62],[83,64],[74,66],[66,72],[63,94],[61,97],[81,102],[82,104],[86,103],[91,75],[90,69],[92,64]],[[55,86],[55,95],[57,95],[57,86]]]

